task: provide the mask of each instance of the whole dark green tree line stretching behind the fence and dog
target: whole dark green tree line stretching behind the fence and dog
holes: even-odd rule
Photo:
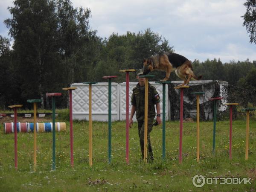
[[[124,82],[122,69],[140,69],[143,58],[158,52],[175,52],[169,41],[150,28],[141,32],[113,33],[101,38],[91,29],[90,9],[74,8],[70,0],[15,0],[9,7],[11,18],[4,23],[13,39],[0,35],[0,108],[27,99],[43,99],[41,108],[49,108],[45,93],[62,92],[74,82],[106,81],[102,76],[117,75]],[[186,56],[186,55],[184,55]],[[223,80],[247,89],[256,87],[256,61],[220,59],[192,62],[203,80]],[[154,71],[163,79],[165,72]],[[172,73],[171,80],[179,80]],[[137,81],[131,73],[131,81]],[[67,93],[58,99],[58,107],[67,106]],[[29,105],[26,107],[29,108]]]

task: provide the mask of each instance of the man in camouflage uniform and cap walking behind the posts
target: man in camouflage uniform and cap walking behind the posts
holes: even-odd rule
[[[133,124],[133,116],[136,111],[136,119],[138,122],[138,131],[140,137],[140,148],[142,153],[142,158],[144,157],[144,115],[145,115],[145,78],[140,78],[143,74],[143,69],[137,70],[137,79],[139,83],[132,90],[131,96],[131,116],[129,118],[129,126]],[[155,107],[157,108],[157,123],[162,122],[160,118],[160,96],[157,93],[156,88],[148,83],[148,160],[154,160],[153,151],[150,142],[150,132],[153,128],[153,121],[156,115]]]

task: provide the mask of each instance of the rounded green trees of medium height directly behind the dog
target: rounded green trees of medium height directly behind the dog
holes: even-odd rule
[[[140,69],[143,67],[143,58],[161,51],[173,52],[174,50],[165,38],[162,39],[162,36],[152,32],[151,29],[146,29],[145,32],[138,32],[137,34],[134,32],[127,32],[125,35],[113,33],[103,42],[102,62],[99,62],[95,69],[100,70],[103,67],[105,70],[100,71],[109,75],[118,74],[119,78],[116,80],[125,81],[125,74],[120,74],[120,69]],[[161,72],[154,71],[154,74],[157,73]],[[99,81],[99,79],[95,80]],[[132,74],[131,81],[137,81]]]

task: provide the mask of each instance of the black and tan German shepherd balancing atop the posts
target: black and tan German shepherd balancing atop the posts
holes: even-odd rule
[[[176,75],[183,79],[183,84],[189,84],[190,79],[200,80],[202,76],[195,76],[192,70],[192,63],[186,57],[177,53],[160,52],[157,55],[144,59],[143,61],[143,75],[148,74],[153,70],[166,71],[166,77],[161,81],[167,81],[171,72],[175,70]]]

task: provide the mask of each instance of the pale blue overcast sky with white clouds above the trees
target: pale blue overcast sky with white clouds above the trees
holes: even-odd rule
[[[0,0],[0,35],[8,36],[3,20],[11,17],[13,0]],[[113,32],[139,32],[151,28],[189,60],[220,58],[256,60],[256,45],[250,44],[242,26],[245,0],[71,0],[74,7],[90,8],[90,26],[102,38]]]

